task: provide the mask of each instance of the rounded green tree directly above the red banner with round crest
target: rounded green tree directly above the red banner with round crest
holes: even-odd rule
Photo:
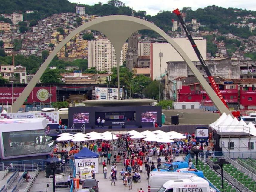
[[[47,84],[58,84],[62,83],[62,76],[60,75],[60,71],[58,69],[48,69],[44,72],[42,77],[40,78],[41,83]]]

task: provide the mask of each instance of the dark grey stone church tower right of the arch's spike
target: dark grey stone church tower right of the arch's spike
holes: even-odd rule
[[[138,48],[138,32],[135,32],[128,39],[128,51],[126,55],[126,61],[129,60],[129,55],[132,53],[132,67],[138,66],[139,48]],[[127,65],[128,67],[129,65]],[[132,71],[132,67],[129,70]]]

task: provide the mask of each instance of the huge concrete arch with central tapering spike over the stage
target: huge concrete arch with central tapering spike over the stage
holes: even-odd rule
[[[230,114],[230,111],[228,110],[228,108],[221,102],[220,98],[216,95],[216,93],[211,88],[211,86],[200,74],[200,72],[194,66],[192,61],[187,56],[187,54],[180,48],[180,46],[176,42],[174,42],[173,39],[171,39],[171,37],[169,37],[159,27],[157,27],[156,25],[148,21],[138,19],[132,16],[125,16],[125,15],[111,15],[111,16],[100,17],[93,21],[87,22],[79,26],[75,30],[73,30],[72,33],[70,33],[65,39],[63,39],[62,42],[60,42],[55,47],[55,49],[50,53],[50,55],[45,60],[45,62],[41,65],[41,67],[36,72],[33,79],[28,83],[28,85],[19,95],[17,100],[13,103],[12,112],[17,112],[19,110],[19,108],[24,103],[26,98],[29,96],[33,88],[36,86],[36,83],[39,81],[40,77],[42,76],[42,74],[50,64],[51,60],[59,52],[59,50],[76,34],[84,30],[97,30],[105,34],[105,36],[107,36],[108,39],[113,44],[116,51],[117,73],[119,77],[119,67],[120,67],[119,62],[120,62],[120,54],[121,54],[122,46],[125,43],[125,41],[131,36],[132,33],[138,30],[143,30],[143,29],[153,30],[159,33],[163,38],[165,38],[174,47],[174,49],[180,54],[180,56],[184,59],[184,61],[188,64],[188,66],[194,73],[195,77],[198,79],[198,81],[200,82],[204,90],[206,90],[206,93],[209,95],[211,100],[219,109],[220,113],[225,112],[226,114]],[[118,88],[120,89],[119,78],[118,78]]]

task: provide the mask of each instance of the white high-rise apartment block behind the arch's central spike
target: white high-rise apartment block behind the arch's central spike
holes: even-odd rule
[[[120,65],[125,61],[125,51],[127,51],[127,43],[122,48]],[[108,72],[117,66],[115,49],[108,39],[88,41],[88,66],[96,67],[98,71]]]

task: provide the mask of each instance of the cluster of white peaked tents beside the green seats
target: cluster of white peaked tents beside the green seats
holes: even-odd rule
[[[219,119],[211,123],[209,127],[213,128],[220,135],[252,135],[256,136],[256,128],[252,123],[248,125],[241,119],[238,121],[230,115],[223,113]]]

